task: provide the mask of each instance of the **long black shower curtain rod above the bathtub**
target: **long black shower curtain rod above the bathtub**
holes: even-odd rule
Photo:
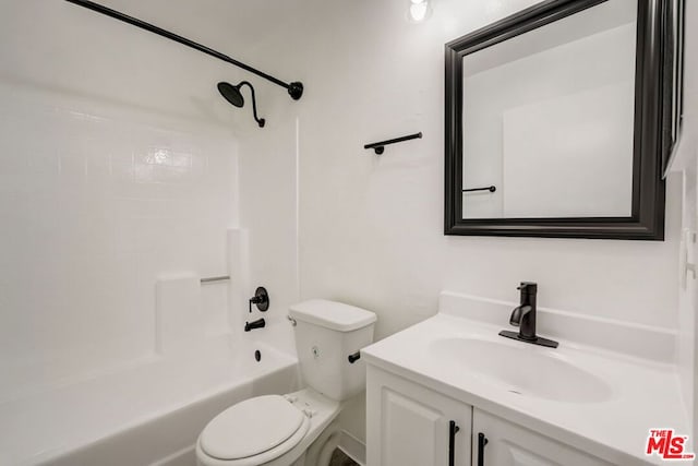
[[[117,10],[112,10],[110,8],[107,8],[105,5],[101,5],[99,3],[95,3],[94,1],[89,1],[89,0],[65,0],[67,2],[70,3],[74,3],[77,4],[80,7],[84,7],[88,10],[93,10],[96,11],[97,13],[101,13],[105,14],[109,17],[113,17],[115,20],[119,20],[119,21],[123,21],[124,23],[131,24],[133,26],[140,27],[142,29],[145,31],[149,31],[151,33],[155,33],[158,36],[163,36],[166,37],[170,40],[174,40],[176,43],[185,45],[186,47],[191,47],[195,50],[198,50],[201,52],[204,52],[206,55],[209,55],[212,57],[215,57],[219,60],[222,60],[227,63],[230,64],[234,64],[236,67],[242,68],[243,70],[246,70],[251,73],[256,74],[260,77],[264,77],[265,80],[268,80],[270,82],[273,82],[276,85],[279,85],[284,88],[286,88],[288,91],[288,94],[291,96],[291,98],[293,100],[298,100],[299,98],[301,98],[301,96],[303,95],[303,83],[294,81],[292,83],[285,83],[281,80],[277,80],[276,77],[266,74],[260,70],[255,70],[254,68],[244,64],[233,58],[228,57],[227,55],[224,55],[217,50],[214,50],[212,48],[208,48],[206,46],[203,46],[201,44],[197,44],[193,40],[188,39],[186,37],[182,37],[180,35],[177,35],[174,33],[171,33],[167,29],[163,29],[161,27],[158,27],[154,24],[151,23],[146,23],[145,21],[141,21],[137,17],[133,17],[133,16],[129,16],[128,14],[123,14]]]

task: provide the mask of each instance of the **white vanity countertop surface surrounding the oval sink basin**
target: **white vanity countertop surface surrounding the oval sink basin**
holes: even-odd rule
[[[486,378],[459,369],[453,359],[435,358],[431,349],[433,342],[454,337],[501,340],[521,350],[540,348],[501,337],[501,330],[512,330],[506,320],[496,325],[440,313],[361,354],[369,365],[618,465],[665,464],[657,456],[645,455],[650,429],[673,428],[677,433],[689,433],[677,371],[671,363],[542,334],[559,342],[558,348],[547,349],[555,351],[555,358],[573,362],[611,387],[607,399],[573,403],[512,393]],[[462,355],[472,357],[480,355]]]

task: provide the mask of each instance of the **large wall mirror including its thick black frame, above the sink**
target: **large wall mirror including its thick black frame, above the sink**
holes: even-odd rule
[[[544,1],[446,45],[446,235],[663,239],[671,1]]]

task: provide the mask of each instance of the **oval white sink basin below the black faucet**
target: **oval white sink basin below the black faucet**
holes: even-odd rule
[[[430,345],[430,354],[437,360],[515,394],[566,403],[611,398],[609,384],[555,351],[479,338],[442,338]]]

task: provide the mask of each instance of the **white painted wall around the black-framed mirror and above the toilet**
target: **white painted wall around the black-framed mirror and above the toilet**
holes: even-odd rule
[[[371,309],[383,338],[434,314],[442,289],[515,301],[518,282],[535,280],[546,307],[677,327],[675,180],[663,242],[443,235],[444,44],[533,3],[442,0],[421,25],[400,0],[303,4],[291,51],[269,62],[305,95],[266,96],[298,112],[301,298]],[[362,148],[416,131],[380,157]],[[362,438],[360,414],[342,420]]]

